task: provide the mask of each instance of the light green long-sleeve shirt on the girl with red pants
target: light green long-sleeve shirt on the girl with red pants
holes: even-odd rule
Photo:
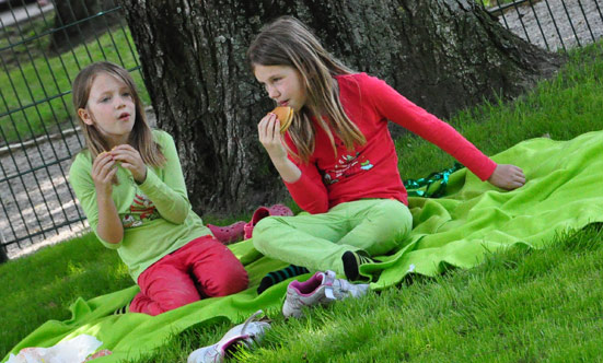
[[[149,266],[188,242],[211,235],[201,219],[190,209],[176,145],[164,131],[153,130],[166,163],[148,166],[147,179],[138,185],[129,171],[118,166],[118,185],[112,198],[124,225],[124,239],[112,244],[98,237],[98,207],[92,180],[92,157],[88,150],[80,152],[69,171],[69,180],[96,237],[108,248],[117,249],[128,266],[134,281]]]

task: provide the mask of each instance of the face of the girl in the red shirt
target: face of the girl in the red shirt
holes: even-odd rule
[[[279,106],[289,106],[299,112],[305,105],[305,87],[300,72],[293,67],[254,65],[254,74],[264,84],[268,97]]]

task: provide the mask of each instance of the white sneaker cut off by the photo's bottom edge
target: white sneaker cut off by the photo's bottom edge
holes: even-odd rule
[[[239,346],[251,348],[258,343],[267,329],[270,328],[270,323],[266,319],[255,320],[255,318],[264,312],[257,311],[250,316],[245,323],[230,329],[219,342],[213,346],[199,348],[188,355],[187,363],[219,363],[223,362],[227,353],[233,351]]]

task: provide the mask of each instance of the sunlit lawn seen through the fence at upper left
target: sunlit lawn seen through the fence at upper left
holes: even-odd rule
[[[53,19],[51,13],[46,15],[46,20],[38,17],[22,25],[24,28],[8,27],[5,37],[0,40],[3,59],[0,115],[9,113],[0,117],[0,134],[5,142],[53,132],[69,121],[71,82],[89,63],[109,60],[126,69],[138,65],[129,30],[119,26],[98,35],[97,39],[74,45],[72,50],[45,57],[49,52],[49,35],[43,34],[53,26],[48,19]],[[18,45],[21,42],[23,44]],[[150,104],[140,71],[132,72],[132,77],[143,103]]]

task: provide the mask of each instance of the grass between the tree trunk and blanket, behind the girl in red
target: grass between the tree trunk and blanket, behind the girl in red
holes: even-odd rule
[[[573,50],[563,72],[515,102],[486,102],[449,122],[487,155],[543,136],[569,140],[603,127],[602,82],[603,44],[595,44]],[[424,177],[454,163],[439,148],[411,134],[398,138],[396,149],[404,179]]]

